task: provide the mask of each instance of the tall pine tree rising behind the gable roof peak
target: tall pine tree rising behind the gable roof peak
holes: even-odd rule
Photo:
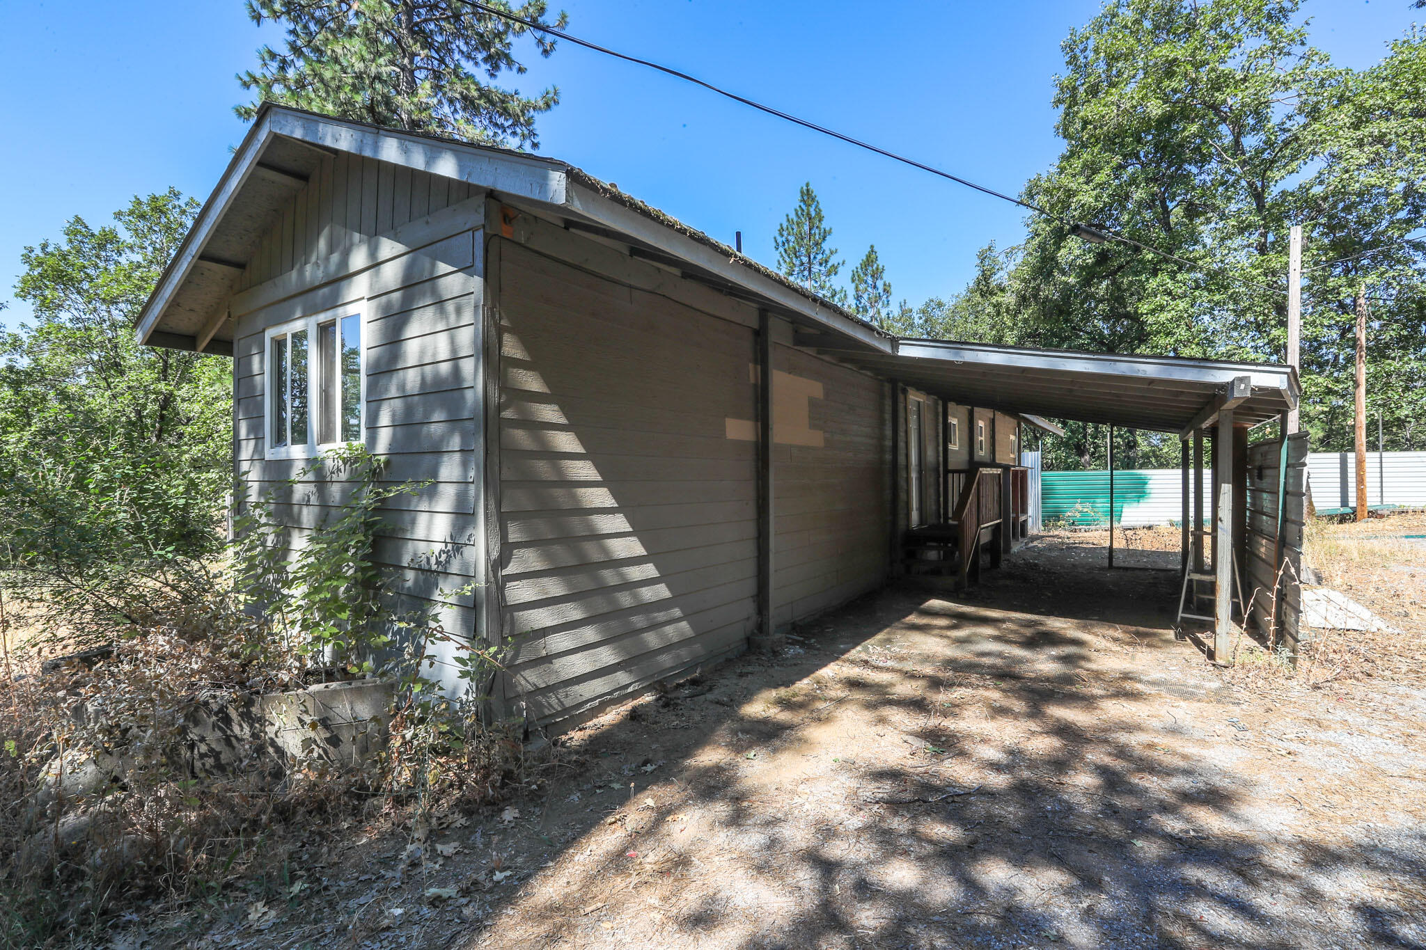
[[[539,147],[535,120],[559,103],[550,87],[522,95],[493,84],[523,74],[515,38],[529,34],[540,56],[555,41],[465,0],[248,0],[254,23],[282,23],[282,48],[258,50],[258,68],[238,83],[254,90],[237,107],[251,120],[264,100],[389,128],[434,132],[489,145]],[[486,6],[532,23],[553,23],[545,0]]]

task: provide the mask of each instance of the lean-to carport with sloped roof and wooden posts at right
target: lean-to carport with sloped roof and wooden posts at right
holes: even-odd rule
[[[1306,434],[1288,434],[1288,413],[1301,396],[1293,367],[920,339],[896,340],[893,353],[830,336],[799,342],[955,403],[1176,434],[1181,628],[1206,625],[1205,648],[1218,662],[1229,657],[1235,618],[1273,642],[1285,635],[1289,655],[1296,654],[1303,491],[1293,470],[1306,456]],[[1276,434],[1251,444],[1253,430],[1271,422],[1279,423]],[[1206,513],[1205,443],[1212,457]]]

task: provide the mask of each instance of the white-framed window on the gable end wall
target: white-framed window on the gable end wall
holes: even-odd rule
[[[307,459],[365,439],[365,302],[270,326],[267,457]]]

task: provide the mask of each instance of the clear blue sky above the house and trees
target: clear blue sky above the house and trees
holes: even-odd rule
[[[841,0],[566,0],[570,31],[666,63],[1010,194],[1060,151],[1060,41],[1099,0],[954,0],[878,11]],[[1308,0],[1312,41],[1379,60],[1409,0]],[[278,34],[241,0],[0,4],[0,301],[26,245],[134,194],[207,197],[244,132],[234,74]],[[533,56],[526,46],[522,53]],[[773,234],[811,181],[851,265],[876,244],[897,298],[950,295],[975,251],[1022,235],[1018,208],[578,47],[506,77],[560,87],[540,151],[774,262]],[[10,301],[0,322],[23,320]]]

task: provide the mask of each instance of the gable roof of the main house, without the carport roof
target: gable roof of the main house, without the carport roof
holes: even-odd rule
[[[174,259],[140,313],[143,343],[231,352],[217,308],[232,293],[265,228],[331,154],[366,158],[469,182],[533,204],[575,229],[617,235],[650,258],[750,299],[807,329],[873,350],[894,338],[727,245],[568,162],[489,145],[402,132],[264,104]],[[231,340],[227,340],[231,343]]]

